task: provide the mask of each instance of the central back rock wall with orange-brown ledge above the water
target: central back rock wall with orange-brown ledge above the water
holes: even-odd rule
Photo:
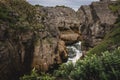
[[[59,38],[67,45],[81,39],[79,31],[80,22],[74,10],[68,7],[60,6],[55,8],[46,8],[45,10],[47,12],[45,25],[48,26],[49,31],[53,32],[52,34],[55,35],[57,30]]]

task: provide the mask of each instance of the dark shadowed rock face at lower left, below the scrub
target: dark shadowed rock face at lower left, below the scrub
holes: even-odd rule
[[[19,33],[7,23],[0,24],[0,80],[15,80],[22,73],[28,72],[33,49],[31,31]]]

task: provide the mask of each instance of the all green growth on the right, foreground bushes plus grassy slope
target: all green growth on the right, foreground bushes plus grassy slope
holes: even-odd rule
[[[120,9],[120,0],[109,6],[113,12]],[[62,80],[119,80],[120,79],[120,15],[114,29],[105,35],[104,40],[93,49],[83,60],[75,65],[63,64],[54,72]],[[109,52],[109,51],[110,52]]]

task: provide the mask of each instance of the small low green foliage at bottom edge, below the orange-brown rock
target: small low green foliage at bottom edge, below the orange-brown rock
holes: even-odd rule
[[[35,69],[32,70],[30,75],[24,75],[20,78],[20,80],[54,80],[55,78],[52,77],[50,74],[41,73],[38,74]]]

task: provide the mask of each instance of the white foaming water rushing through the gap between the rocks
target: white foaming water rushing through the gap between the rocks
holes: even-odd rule
[[[69,58],[68,62],[76,63],[78,59],[82,56],[82,51],[81,51],[81,42],[77,42],[71,46],[67,46],[68,52],[69,52]]]

